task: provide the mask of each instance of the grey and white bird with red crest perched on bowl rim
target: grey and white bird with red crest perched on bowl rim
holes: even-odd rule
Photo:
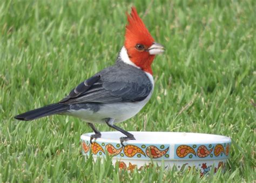
[[[73,116],[92,128],[91,143],[102,136],[95,124],[106,124],[123,133],[123,146],[127,140],[136,140],[116,123],[135,116],[150,100],[154,88],[151,65],[165,48],[154,41],[134,6],[126,16],[124,45],[112,66],[78,84],[57,103],[18,114],[15,119],[30,121],[53,114]]]

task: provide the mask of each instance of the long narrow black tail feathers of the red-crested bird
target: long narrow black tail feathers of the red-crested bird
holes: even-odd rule
[[[29,121],[37,118],[42,118],[45,116],[51,116],[52,114],[58,114],[65,112],[69,109],[67,104],[51,104],[35,110],[31,110],[22,114],[15,116],[15,119]]]

